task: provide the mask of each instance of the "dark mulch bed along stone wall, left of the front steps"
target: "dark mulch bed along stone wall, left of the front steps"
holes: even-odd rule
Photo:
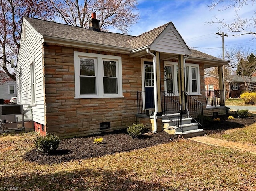
[[[101,144],[93,143],[95,138],[104,138]],[[103,133],[97,136],[63,139],[58,150],[53,154],[44,154],[35,149],[26,153],[24,159],[39,164],[61,163],[71,160],[81,160],[91,157],[128,152],[130,150],[146,148],[158,144],[168,143],[176,140],[175,135],[160,133],[145,133],[141,138],[131,138],[126,130],[118,130],[110,133]]]

